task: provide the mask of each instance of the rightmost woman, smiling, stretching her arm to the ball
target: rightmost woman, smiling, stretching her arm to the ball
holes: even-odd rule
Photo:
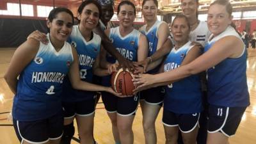
[[[236,29],[232,28],[232,6],[229,2],[217,0],[210,5],[207,25],[212,35],[202,56],[170,72],[136,76],[134,83],[141,84],[140,90],[154,83],[175,81],[207,70],[207,143],[228,143],[228,137],[236,133],[241,117],[250,104],[246,83],[246,49]]]

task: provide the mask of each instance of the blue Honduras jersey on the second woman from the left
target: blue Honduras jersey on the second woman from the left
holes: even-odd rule
[[[79,58],[79,71],[81,80],[92,83],[92,66],[100,52],[100,36],[93,33],[92,40],[86,42],[83,35],[79,31],[78,26],[74,26],[72,33],[68,38],[68,42],[76,48]],[[63,101],[76,102],[80,100],[92,99],[94,95],[95,92],[74,90],[68,77],[65,79],[62,94]]]

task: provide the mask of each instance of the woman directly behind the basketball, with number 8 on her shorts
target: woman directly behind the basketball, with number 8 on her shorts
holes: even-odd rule
[[[106,29],[105,33],[109,36],[116,49],[131,61],[141,61],[147,56],[147,38],[132,27],[135,19],[136,9],[130,1],[122,1],[118,5],[117,17],[120,26]],[[116,59],[105,52],[105,59],[102,66],[116,69]],[[110,86],[110,76],[102,77],[102,83]],[[116,143],[133,143],[132,122],[138,107],[138,96],[119,99],[111,93],[102,93],[104,106],[111,119],[113,136]]]

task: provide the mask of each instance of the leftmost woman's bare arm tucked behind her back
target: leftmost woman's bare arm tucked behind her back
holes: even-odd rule
[[[14,52],[10,66],[4,74],[4,79],[14,94],[17,90],[17,77],[31,60],[35,58],[39,45],[40,43],[37,40],[29,38]]]

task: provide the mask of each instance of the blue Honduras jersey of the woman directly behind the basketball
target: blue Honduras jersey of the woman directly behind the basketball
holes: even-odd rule
[[[138,60],[138,43],[140,38],[140,31],[133,29],[131,33],[128,35],[122,37],[119,32],[119,27],[111,28],[109,33],[109,38],[116,47],[116,50],[124,56],[127,60],[130,61],[137,61]],[[107,54],[106,60],[109,63],[115,63],[116,58],[111,56],[109,53]],[[105,76],[102,77],[102,84],[104,86],[110,86],[110,77],[111,76]]]

